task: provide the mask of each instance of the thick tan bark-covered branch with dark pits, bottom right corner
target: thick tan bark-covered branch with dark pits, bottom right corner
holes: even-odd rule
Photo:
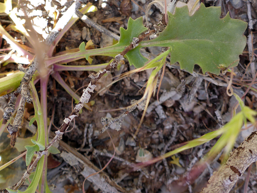
[[[253,163],[257,161],[257,131],[252,132],[241,145],[229,156],[227,162],[218,171],[213,172],[208,185],[201,193],[229,192],[239,177]]]

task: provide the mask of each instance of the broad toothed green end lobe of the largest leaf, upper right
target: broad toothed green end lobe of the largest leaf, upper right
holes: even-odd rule
[[[179,62],[181,69],[192,72],[198,64],[203,73],[220,73],[220,66],[235,67],[246,45],[243,35],[247,23],[231,19],[229,14],[220,19],[220,7],[199,9],[190,16],[187,6],[168,13],[168,25],[155,39],[144,41],[140,47],[171,47],[170,62]]]

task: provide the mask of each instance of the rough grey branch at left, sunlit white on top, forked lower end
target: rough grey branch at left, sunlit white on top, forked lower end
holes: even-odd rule
[[[88,3],[88,2],[89,0],[77,0],[69,7],[69,9],[67,9],[65,14],[59,19],[59,21],[55,25],[55,28],[51,31],[51,33],[45,39],[44,43],[46,45],[46,48],[53,43],[55,38],[59,35],[60,31],[65,27],[65,25],[74,15],[74,13],[79,9],[79,7],[81,6],[81,3]],[[10,143],[12,147],[15,145],[16,134],[19,128],[21,127],[25,103],[26,102],[30,103],[32,101],[31,96],[29,94],[28,84],[31,81],[31,78],[35,73],[35,71],[39,70],[39,63],[43,61],[41,59],[44,58],[44,56],[45,56],[45,52],[43,53],[43,55],[36,56],[28,69],[23,69],[20,67],[20,69],[25,72],[23,79],[21,81],[21,85],[19,86],[17,91],[12,93],[9,103],[4,108],[3,124],[6,124],[11,116],[11,112],[14,112],[14,104],[16,102],[17,96],[19,92],[21,93],[21,101],[19,103],[17,115],[15,116],[13,125],[9,124],[7,126],[7,130],[12,136],[11,143]]]

